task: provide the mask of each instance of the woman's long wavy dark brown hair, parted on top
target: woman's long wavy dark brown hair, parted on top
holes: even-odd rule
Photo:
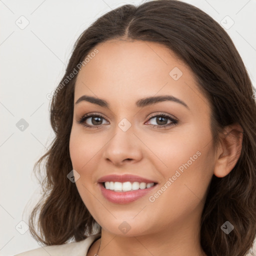
[[[254,89],[226,31],[202,10],[176,0],[115,8],[99,17],[76,40],[51,101],[50,122],[55,137],[49,150],[34,165],[34,169],[38,165],[38,173],[45,177],[41,181],[42,197],[29,219],[31,234],[36,240],[52,245],[80,241],[93,234],[93,227],[98,228],[98,233],[101,231],[75,183],[67,178],[72,170],[69,136],[77,74],[70,80],[67,76],[77,70],[97,43],[113,38],[161,43],[191,68],[198,87],[211,104],[214,147],[224,126],[239,123],[243,128],[242,150],[236,165],[222,178],[213,175],[209,184],[201,216],[200,242],[207,255],[245,255],[256,234]],[[44,174],[40,168],[42,160],[45,160]],[[220,228],[226,220],[234,226],[228,235]]]

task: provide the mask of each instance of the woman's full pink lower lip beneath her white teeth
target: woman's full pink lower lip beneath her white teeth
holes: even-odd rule
[[[137,200],[138,198],[146,195],[148,192],[150,192],[152,189],[154,189],[157,184],[144,188],[144,189],[137,189],[137,190],[130,190],[126,192],[115,192],[110,189],[104,188],[102,183],[98,183],[101,193],[103,196],[110,202],[113,203],[129,203]]]

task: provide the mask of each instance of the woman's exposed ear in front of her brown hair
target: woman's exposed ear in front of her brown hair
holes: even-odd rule
[[[241,154],[242,139],[243,129],[238,123],[224,127],[213,171],[215,176],[224,177],[233,169]]]

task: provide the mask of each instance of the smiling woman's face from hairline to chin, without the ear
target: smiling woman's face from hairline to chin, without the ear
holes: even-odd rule
[[[209,103],[193,73],[154,42],[111,40],[96,49],[77,75],[69,142],[84,204],[114,234],[196,228],[215,158]],[[173,100],[145,100],[159,96]],[[110,189],[99,183],[107,180]]]

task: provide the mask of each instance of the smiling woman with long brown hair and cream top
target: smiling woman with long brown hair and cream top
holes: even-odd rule
[[[98,18],[55,90],[55,138],[37,162],[47,175],[29,227],[50,246],[18,255],[246,255],[253,92],[230,37],[190,4]]]

